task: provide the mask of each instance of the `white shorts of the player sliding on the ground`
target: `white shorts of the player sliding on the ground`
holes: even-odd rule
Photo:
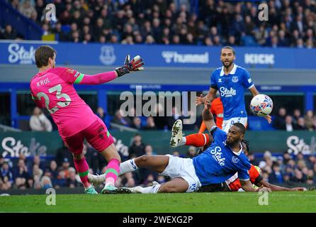
[[[196,176],[196,170],[194,169],[193,160],[191,158],[182,158],[169,156],[169,163],[160,175],[164,175],[171,178],[181,177],[188,182],[188,189],[186,192],[194,192],[201,187],[201,182]]]

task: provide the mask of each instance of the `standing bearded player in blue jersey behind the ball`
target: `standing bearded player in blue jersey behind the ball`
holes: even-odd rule
[[[196,97],[196,104],[203,104],[205,99],[213,101],[216,92],[220,92],[220,100],[224,107],[224,121],[222,130],[226,133],[234,123],[247,126],[247,112],[244,104],[244,89],[249,89],[252,96],[259,94],[249,72],[234,63],[235,50],[230,46],[222,48],[220,61],[222,67],[216,69],[210,77],[210,90],[206,96]],[[265,116],[271,123],[271,116]]]

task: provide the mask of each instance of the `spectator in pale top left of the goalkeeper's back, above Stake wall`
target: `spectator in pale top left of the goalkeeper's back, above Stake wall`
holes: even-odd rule
[[[38,106],[35,106],[33,115],[30,116],[30,129],[32,131],[52,131],[52,123]]]

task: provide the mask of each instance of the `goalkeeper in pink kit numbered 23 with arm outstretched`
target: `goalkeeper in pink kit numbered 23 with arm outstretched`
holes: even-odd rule
[[[102,193],[118,193],[120,190],[114,184],[120,170],[120,155],[113,145],[113,137],[103,121],[79,97],[73,84],[103,84],[126,73],[144,70],[144,63],[139,55],[131,61],[128,55],[122,67],[89,75],[67,67],[55,67],[55,59],[56,51],[48,45],[36,50],[35,63],[39,72],[30,81],[32,99],[52,115],[62,140],[72,152],[86,194],[97,192],[88,179],[89,166],[82,153],[84,139],[108,161]]]

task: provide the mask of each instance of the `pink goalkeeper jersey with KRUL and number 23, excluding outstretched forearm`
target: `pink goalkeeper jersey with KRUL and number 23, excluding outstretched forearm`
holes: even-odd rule
[[[84,74],[76,70],[56,67],[39,72],[30,81],[33,100],[52,114],[63,138],[79,133],[97,119],[74,89],[73,84],[80,82],[82,77]]]

